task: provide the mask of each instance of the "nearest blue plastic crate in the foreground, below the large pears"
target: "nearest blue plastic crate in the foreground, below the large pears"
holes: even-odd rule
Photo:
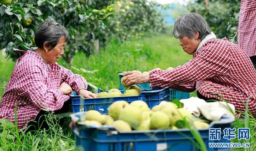
[[[76,116],[79,117],[79,114],[84,112],[76,113]],[[228,139],[223,139],[223,129],[231,127],[232,122],[234,118],[222,116],[220,121],[210,124],[210,128],[222,129],[221,139],[216,141],[209,140],[208,128],[198,129],[208,151],[230,151],[230,148],[210,148],[208,144],[230,143]],[[191,141],[196,139],[189,129],[119,132],[112,126],[97,127],[78,124],[74,129],[76,147],[80,151],[199,151],[199,147]]]

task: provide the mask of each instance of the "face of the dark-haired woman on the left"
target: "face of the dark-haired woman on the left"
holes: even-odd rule
[[[64,37],[60,38],[57,45],[50,51],[46,52],[46,63],[54,64],[58,59],[64,54],[64,47],[66,45],[66,39]]]

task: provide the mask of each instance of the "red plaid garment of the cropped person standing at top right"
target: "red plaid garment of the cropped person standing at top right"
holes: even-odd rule
[[[256,56],[256,0],[241,0],[238,45],[249,57]]]

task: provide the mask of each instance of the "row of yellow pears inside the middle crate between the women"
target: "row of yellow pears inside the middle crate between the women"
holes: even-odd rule
[[[98,98],[104,98],[104,97],[120,97],[120,96],[138,96],[141,92],[141,89],[136,86],[132,85],[128,88],[128,90],[122,92],[116,88],[113,88],[109,90],[108,92],[100,92],[98,94]]]

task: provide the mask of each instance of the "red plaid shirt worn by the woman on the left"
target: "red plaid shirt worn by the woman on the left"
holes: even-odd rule
[[[57,63],[48,66],[38,53],[26,51],[17,60],[6,86],[0,102],[0,118],[15,123],[17,104],[17,122],[21,130],[26,128],[28,121],[36,118],[41,109],[59,110],[70,98],[58,90],[62,82],[77,92],[87,88],[87,82],[82,76],[74,75]]]

